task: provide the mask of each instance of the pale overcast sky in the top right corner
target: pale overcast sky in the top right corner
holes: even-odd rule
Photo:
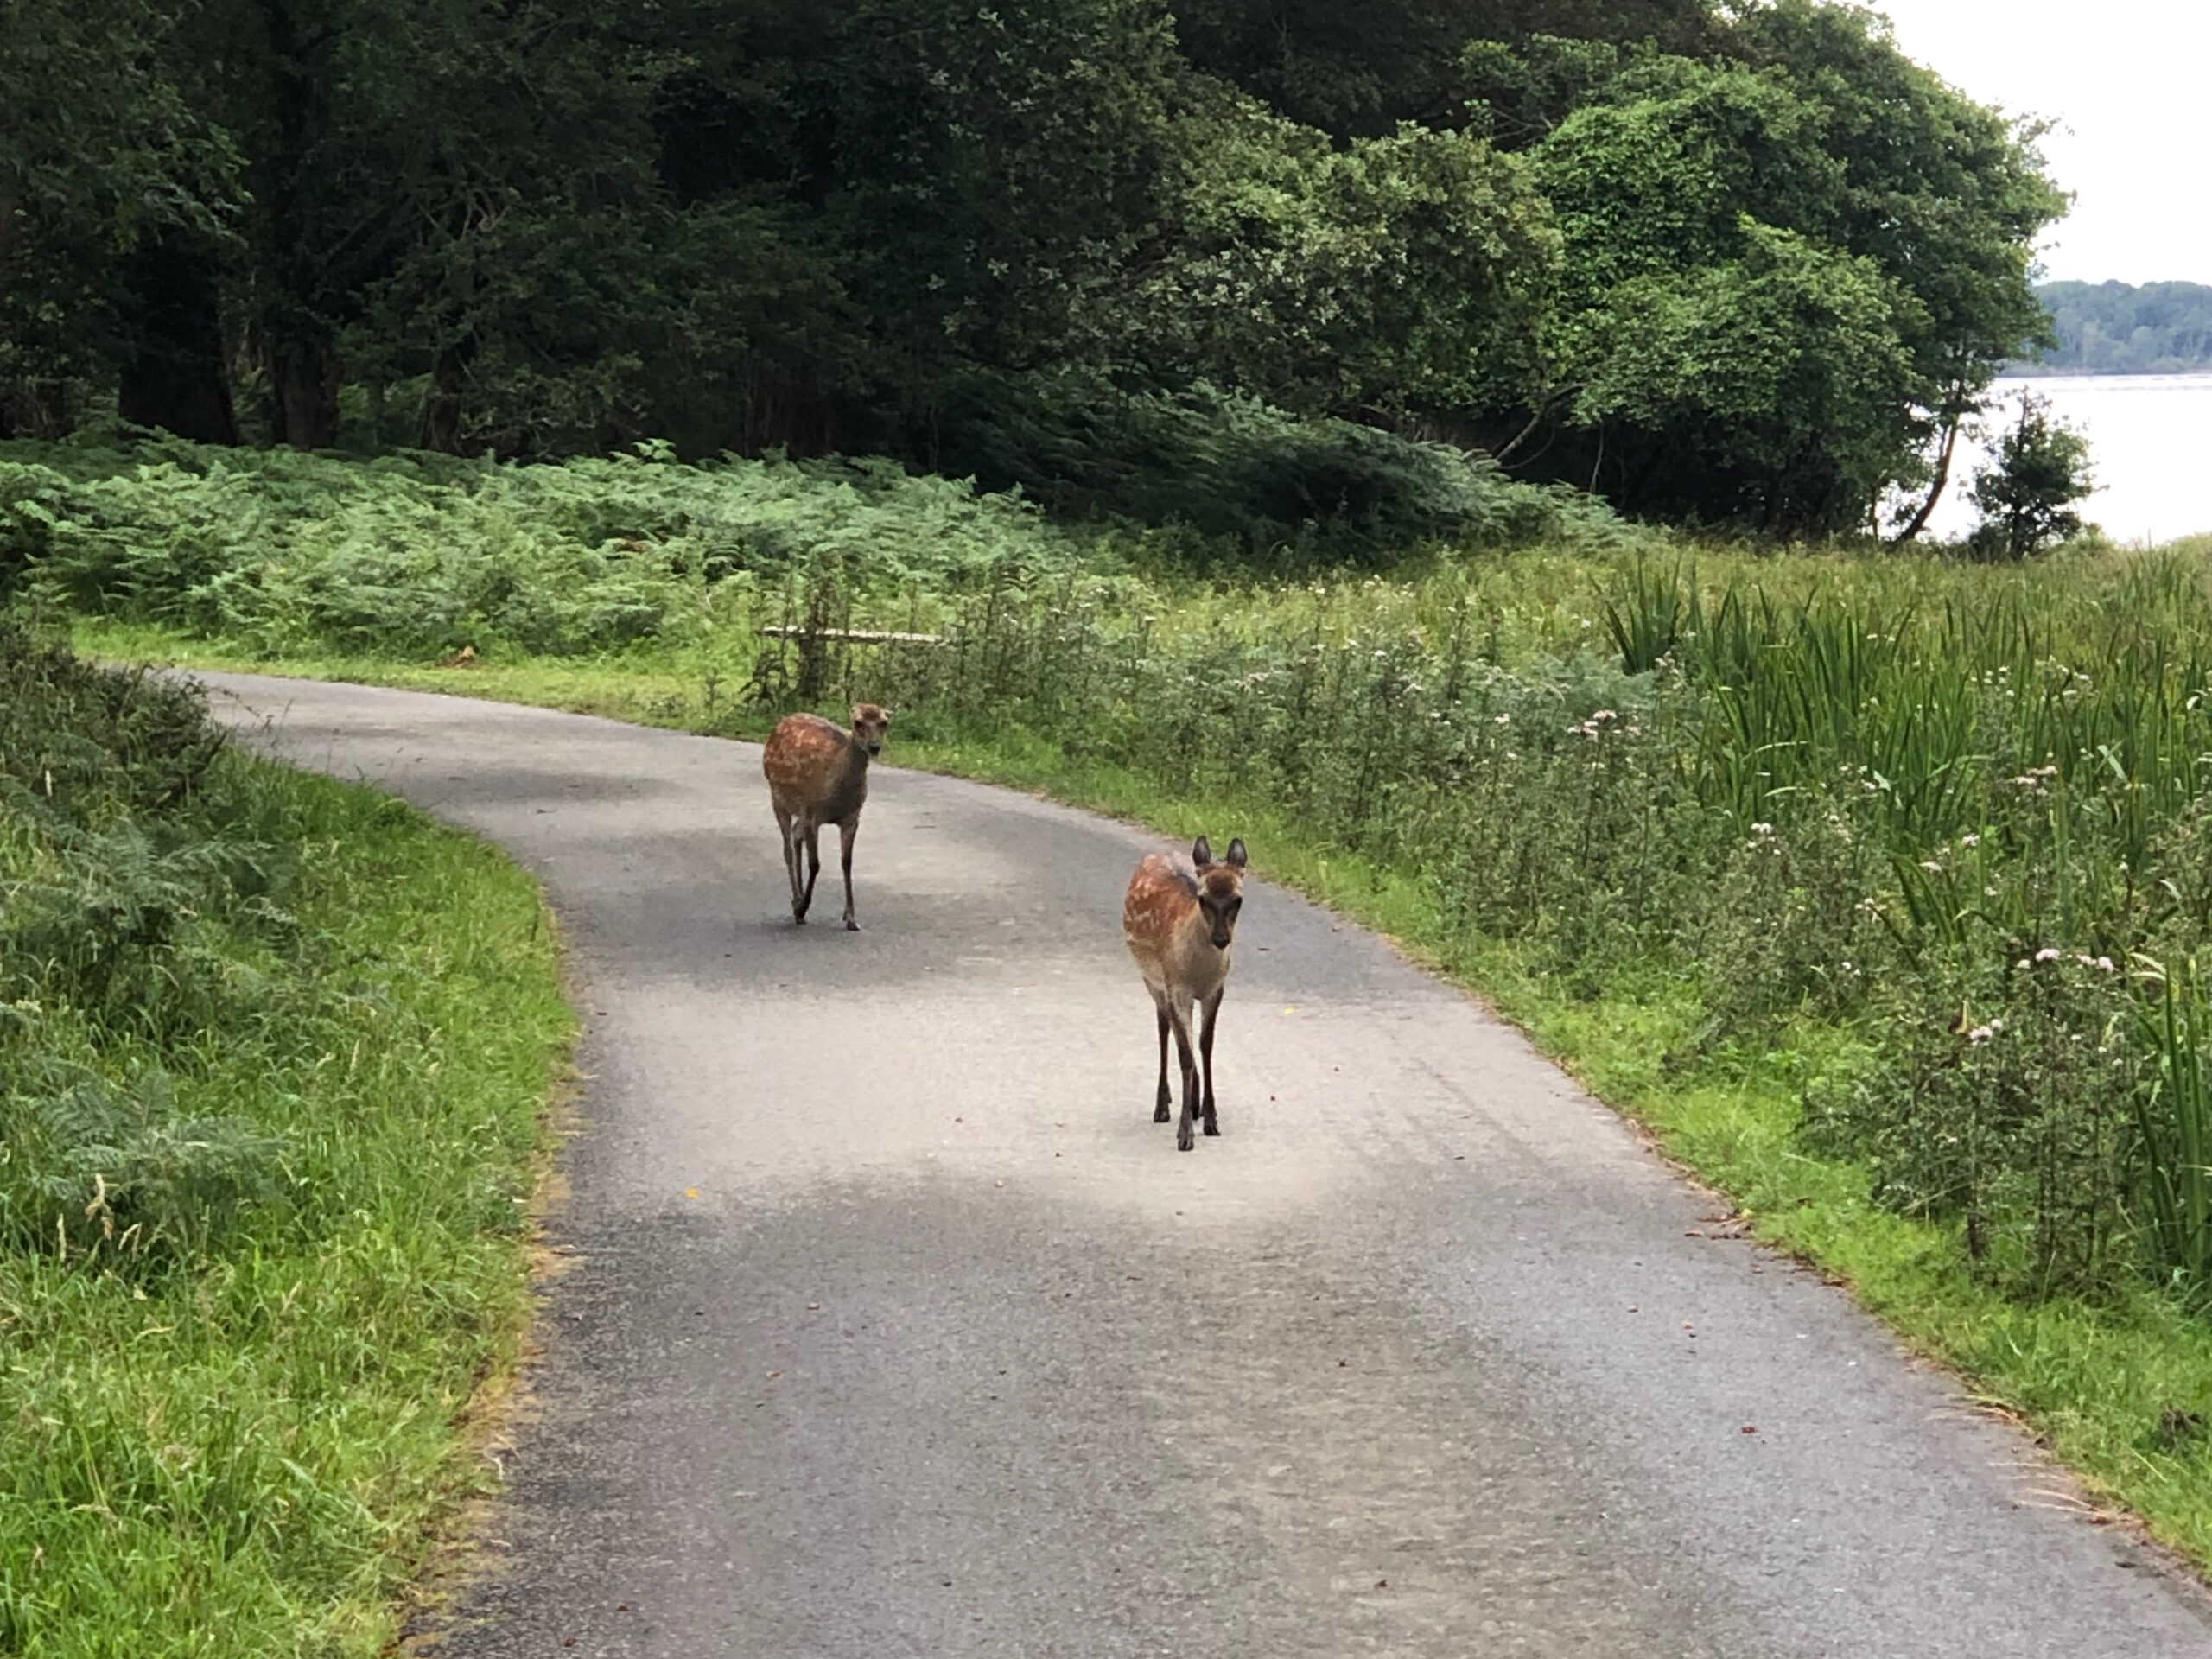
[[[2051,276],[2212,283],[2212,2],[1871,0],[1953,86],[2059,122]]]

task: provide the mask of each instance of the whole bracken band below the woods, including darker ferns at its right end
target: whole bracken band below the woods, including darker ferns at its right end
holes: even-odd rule
[[[1422,533],[1626,535],[1588,498],[1345,422],[1292,436],[1312,453],[1283,476],[1270,471],[1283,422],[1250,405],[1234,416],[1261,438],[1219,422],[1201,440],[1206,418],[1188,403],[1133,411],[1161,447],[1192,442],[1172,469],[1097,484],[1106,500],[1152,491],[1170,529],[1104,535],[887,460],[686,467],[650,449],[562,467],[425,453],[354,465],[175,440],[0,445],[0,595],[119,611],[270,653],[573,655],[710,635],[816,568],[947,595],[1011,573],[1243,562],[1254,538],[1283,566],[1380,557],[1405,546],[1387,538]],[[1296,493],[1323,476],[1329,498]]]

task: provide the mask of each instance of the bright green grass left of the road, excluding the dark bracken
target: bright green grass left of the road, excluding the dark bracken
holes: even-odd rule
[[[201,929],[195,967],[237,995],[159,1053],[46,1015],[71,1064],[159,1064],[188,1113],[276,1137],[276,1179],[159,1248],[0,1248],[0,1655],[385,1652],[489,1489],[471,1413],[529,1316],[573,1031],[551,920],[531,878],[407,805],[221,765],[294,860],[292,925]]]

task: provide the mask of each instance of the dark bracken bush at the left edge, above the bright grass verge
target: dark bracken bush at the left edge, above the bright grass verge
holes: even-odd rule
[[[0,1250],[197,1241],[274,1181],[281,1137],[168,1071],[290,925],[221,748],[188,688],[0,624]]]

